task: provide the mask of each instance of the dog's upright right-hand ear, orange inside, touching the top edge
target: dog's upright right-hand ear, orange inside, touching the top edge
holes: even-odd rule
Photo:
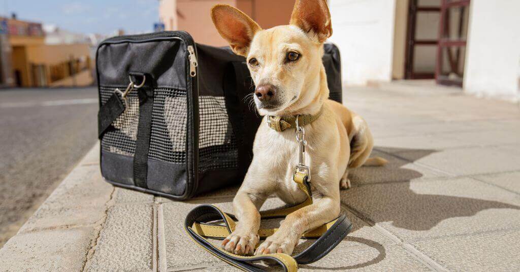
[[[327,0],[296,0],[290,24],[301,28],[311,40],[323,43],[332,35]]]

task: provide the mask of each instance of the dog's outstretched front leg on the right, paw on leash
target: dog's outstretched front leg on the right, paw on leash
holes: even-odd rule
[[[329,180],[337,180],[337,175]],[[291,254],[305,231],[317,228],[337,217],[340,213],[340,188],[337,187],[337,182],[328,184],[323,190],[317,190],[326,192],[327,195],[313,198],[313,204],[285,217],[278,231],[267,237],[255,251],[255,255]]]

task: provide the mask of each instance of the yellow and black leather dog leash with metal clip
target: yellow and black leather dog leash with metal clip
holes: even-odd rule
[[[307,142],[305,141],[305,129],[298,124],[298,121],[298,116],[296,116],[296,141],[298,142],[299,156],[298,164],[294,167],[293,181],[298,185],[300,190],[305,192],[307,199],[304,202],[289,208],[261,211],[261,219],[287,216],[288,214],[313,203],[310,190],[310,169],[305,164],[305,146],[307,145]],[[189,236],[199,244],[202,249],[232,266],[250,272],[265,271],[262,268],[253,265],[253,263],[269,260],[280,265],[285,272],[295,272],[298,270],[298,264],[314,263],[327,255],[345,238],[353,227],[346,215],[342,214],[327,224],[305,232],[302,238],[316,239],[316,241],[307,249],[294,256],[284,253],[242,256],[227,252],[207,240],[207,238],[222,240],[228,237],[235,230],[236,222],[233,218],[235,218],[235,216],[223,212],[214,205],[202,204],[188,213],[184,223],[184,228],[188,232]],[[224,225],[211,224],[210,222],[213,221],[222,221]],[[277,230],[277,228],[259,229],[258,236],[260,238],[267,238]]]

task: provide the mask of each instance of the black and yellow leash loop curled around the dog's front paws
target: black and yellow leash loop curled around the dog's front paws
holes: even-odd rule
[[[224,262],[244,271],[264,271],[263,269],[258,268],[250,263],[262,260],[271,260],[278,263],[283,268],[283,271],[295,272],[298,269],[298,263],[309,264],[320,260],[323,256],[327,255],[332,249],[334,249],[336,245],[345,238],[348,232],[352,230],[352,223],[350,223],[345,215],[341,215],[335,219],[335,221],[333,221],[334,224],[329,227],[320,238],[311,244],[310,247],[305,249],[300,254],[291,257],[283,253],[265,254],[259,256],[241,256],[232,254],[213,245],[192,227],[195,223],[200,224],[222,219],[229,235],[231,234],[235,225],[235,222],[232,221],[231,217],[232,215],[228,215],[220,211],[213,205],[199,205],[190,213],[188,213],[185,221],[185,229],[190,237],[196,241],[204,250],[210,252]]]

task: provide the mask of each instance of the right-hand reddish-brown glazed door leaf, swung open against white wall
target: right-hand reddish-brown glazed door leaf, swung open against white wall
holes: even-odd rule
[[[435,80],[462,86],[470,0],[442,0]]]

